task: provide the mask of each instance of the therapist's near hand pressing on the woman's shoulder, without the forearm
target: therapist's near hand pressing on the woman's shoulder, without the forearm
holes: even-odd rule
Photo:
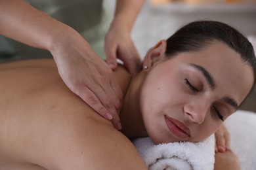
[[[119,108],[123,94],[110,67],[76,31],[59,37],[51,50],[65,84],[104,118],[121,129]]]

